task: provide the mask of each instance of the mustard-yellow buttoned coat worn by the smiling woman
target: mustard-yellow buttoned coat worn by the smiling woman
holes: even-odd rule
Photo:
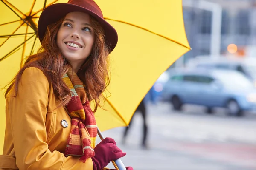
[[[71,119],[64,107],[55,109],[58,98],[40,69],[27,68],[17,97],[13,98],[13,94],[12,89],[6,99],[0,170],[93,170],[91,159],[82,163],[79,156],[64,156]],[[61,125],[63,119],[68,123],[66,128]]]

